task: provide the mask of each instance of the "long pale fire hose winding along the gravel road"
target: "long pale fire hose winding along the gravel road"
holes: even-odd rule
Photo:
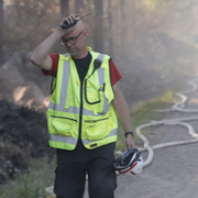
[[[198,112],[198,109],[184,109],[185,102],[187,101],[187,97],[185,96],[185,94],[194,92],[197,90],[197,87],[198,87],[196,84],[197,80],[198,79],[194,79],[194,80],[188,81],[188,84],[193,86],[191,89],[176,94],[176,96],[182,98],[182,101],[175,103],[172,107],[172,109],[157,110],[157,112],[163,112],[163,111],[164,112],[167,112],[167,111]],[[144,143],[143,147],[139,147],[139,150],[141,152],[147,151],[147,158],[144,161],[143,167],[151,165],[151,163],[153,162],[153,158],[154,158],[154,150],[156,150],[156,148],[197,143],[198,142],[198,134],[194,131],[194,128],[190,124],[185,122],[185,121],[191,121],[191,120],[198,120],[198,116],[197,117],[188,117],[188,118],[177,118],[177,119],[170,119],[170,120],[151,121],[150,123],[139,125],[135,129],[135,133]],[[146,136],[144,136],[142,134],[141,130],[144,128],[153,127],[153,125],[182,125],[188,130],[188,133],[191,135],[193,139],[191,140],[185,140],[185,141],[167,142],[167,143],[162,143],[162,144],[151,146],[150,141],[147,140]]]

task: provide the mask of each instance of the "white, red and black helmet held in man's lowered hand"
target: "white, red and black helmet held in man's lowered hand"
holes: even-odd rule
[[[138,148],[125,151],[114,161],[114,168],[122,174],[130,173],[136,175],[143,168],[143,160]]]

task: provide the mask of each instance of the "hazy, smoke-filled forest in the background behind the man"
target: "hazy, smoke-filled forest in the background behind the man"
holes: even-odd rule
[[[87,45],[112,57],[130,108],[196,75],[195,0],[1,0],[0,10],[0,91],[16,103],[37,107],[47,100],[51,79],[29,57],[70,13],[91,13],[84,19]],[[51,53],[66,51],[57,43]],[[11,62],[10,74],[6,65]],[[13,84],[7,80],[13,76]],[[30,87],[41,92],[35,106]],[[23,96],[15,96],[19,90]]]

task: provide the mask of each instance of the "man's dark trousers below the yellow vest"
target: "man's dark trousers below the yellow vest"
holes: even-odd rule
[[[57,168],[54,191],[57,198],[82,198],[86,173],[90,198],[113,198],[116,172],[114,146],[111,143],[87,150],[78,141],[74,151],[57,150]]]

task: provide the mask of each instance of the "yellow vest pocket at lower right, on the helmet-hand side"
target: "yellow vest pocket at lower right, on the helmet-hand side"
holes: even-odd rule
[[[101,140],[108,135],[109,124],[108,119],[99,121],[86,121],[87,123],[87,139],[89,141]]]

